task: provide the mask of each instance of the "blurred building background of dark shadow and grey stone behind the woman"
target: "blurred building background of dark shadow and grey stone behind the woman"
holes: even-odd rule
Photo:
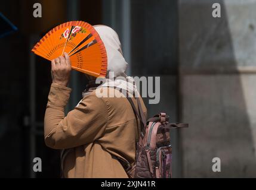
[[[212,17],[212,4],[221,18]],[[42,17],[33,17],[33,4]],[[33,45],[70,20],[119,34],[131,76],[160,76],[161,99],[145,103],[189,128],[171,132],[174,178],[256,177],[256,0],[10,0],[0,12],[17,31],[0,38],[0,177],[58,178],[60,152],[44,144],[50,62]],[[0,28],[1,29],[1,28]],[[72,71],[69,105],[87,79]],[[33,158],[42,172],[33,172]],[[212,171],[219,157],[221,172]]]

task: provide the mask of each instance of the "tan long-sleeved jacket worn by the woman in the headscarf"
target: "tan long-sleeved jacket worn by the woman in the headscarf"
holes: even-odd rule
[[[128,178],[121,163],[113,157],[131,164],[135,161],[138,120],[128,100],[98,98],[94,90],[65,117],[70,91],[68,87],[51,85],[44,121],[46,145],[70,148],[63,161],[64,178]],[[120,93],[113,88],[110,93],[114,91]],[[146,116],[141,98],[140,102]]]

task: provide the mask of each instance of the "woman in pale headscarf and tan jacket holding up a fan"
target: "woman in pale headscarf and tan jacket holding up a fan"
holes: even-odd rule
[[[122,56],[116,32],[107,26],[94,28],[100,34],[107,52],[106,81],[109,83],[103,84],[106,89],[106,84],[115,86],[115,81],[108,79],[110,72],[113,72],[114,77],[129,78],[125,74],[127,62]],[[48,147],[62,149],[62,177],[128,178],[125,164],[132,166],[135,162],[135,145],[140,131],[140,122],[128,100],[121,96],[113,97],[113,94],[121,92],[114,88],[110,90],[109,87],[109,97],[98,97],[95,93],[95,78],[88,77],[91,81],[82,100],[65,117],[64,107],[71,91],[67,87],[71,71],[67,53],[53,60],[51,66],[53,83],[45,110],[44,134]],[[128,81],[131,82],[119,80],[119,84],[125,88]],[[146,116],[143,100],[141,97],[139,100]],[[138,109],[134,97],[132,102]]]

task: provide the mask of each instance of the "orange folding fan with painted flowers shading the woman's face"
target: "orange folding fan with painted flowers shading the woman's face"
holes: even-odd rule
[[[70,56],[71,66],[94,77],[105,77],[107,53],[97,31],[84,21],[70,21],[55,27],[36,43],[32,52],[49,61]]]

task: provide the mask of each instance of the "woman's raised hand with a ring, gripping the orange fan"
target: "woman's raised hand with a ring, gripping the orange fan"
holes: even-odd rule
[[[66,87],[67,83],[69,83],[70,71],[71,63],[67,53],[64,53],[64,57],[59,56],[51,61],[51,78],[53,83]]]

